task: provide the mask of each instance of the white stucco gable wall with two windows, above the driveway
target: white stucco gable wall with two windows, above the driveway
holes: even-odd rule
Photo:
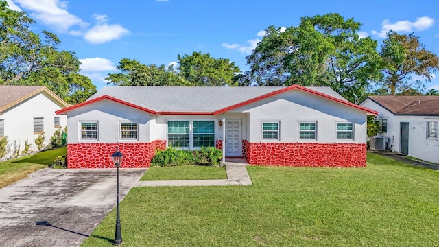
[[[76,108],[68,113],[68,143],[126,143],[150,142],[150,114],[130,106],[125,106],[111,100],[104,99],[94,104]],[[80,140],[80,121],[97,121],[97,141]],[[121,140],[119,137],[119,123],[134,121],[138,123],[137,140]]]

